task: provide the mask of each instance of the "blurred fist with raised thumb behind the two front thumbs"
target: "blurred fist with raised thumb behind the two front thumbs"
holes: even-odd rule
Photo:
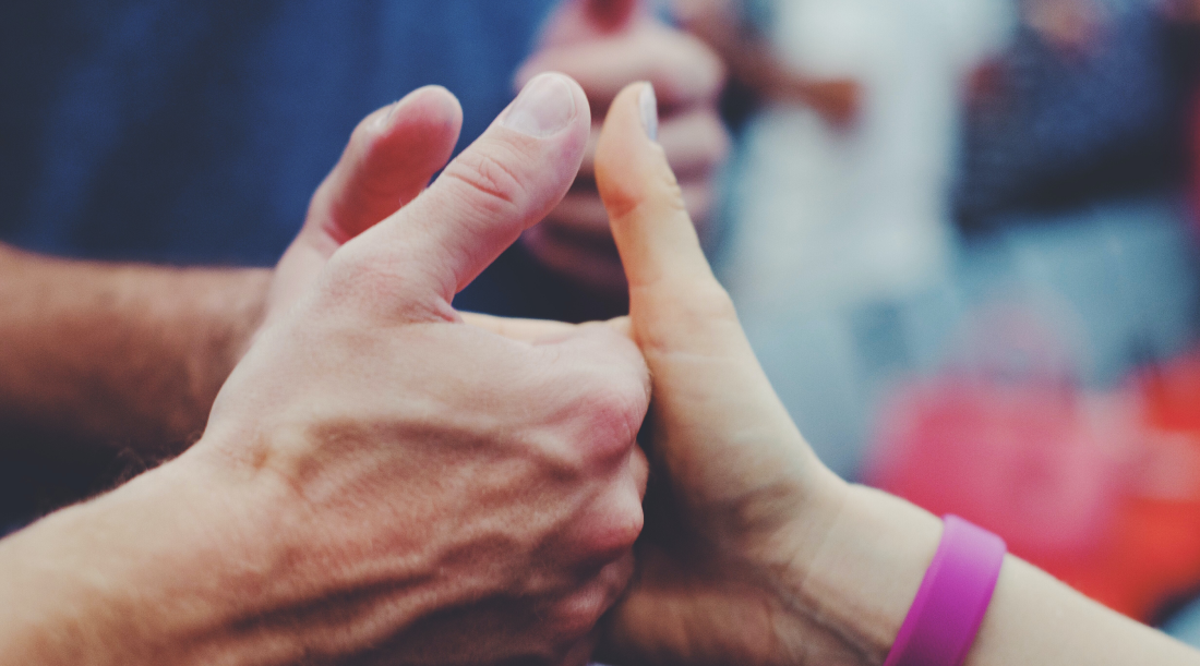
[[[635,80],[659,92],[659,142],[679,175],[684,202],[701,234],[715,205],[716,170],[728,136],[716,109],[725,71],[695,37],[664,24],[637,0],[569,0],[547,24],[538,52],[520,68],[523,85],[540,72],[560,71],[580,82],[594,114]],[[625,276],[612,244],[608,217],[596,196],[592,155],[563,203],[522,242],[542,264],[601,294],[620,293]]]

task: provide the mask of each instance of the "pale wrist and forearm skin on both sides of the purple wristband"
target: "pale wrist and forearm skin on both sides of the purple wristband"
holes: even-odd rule
[[[883,662],[941,539],[941,522],[850,486],[823,545],[790,583],[862,664]],[[1200,654],[1009,556],[967,666],[1200,664]]]

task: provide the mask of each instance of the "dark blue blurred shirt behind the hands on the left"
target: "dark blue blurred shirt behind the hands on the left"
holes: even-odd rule
[[[461,148],[511,100],[553,5],[5,2],[0,240],[85,258],[271,265],[362,116],[442,84],[463,104]],[[458,305],[560,314],[534,293],[558,281],[520,251],[499,264]]]

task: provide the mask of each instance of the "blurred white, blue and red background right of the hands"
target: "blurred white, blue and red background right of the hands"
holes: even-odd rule
[[[719,274],[840,474],[1200,644],[1200,4],[680,0]]]

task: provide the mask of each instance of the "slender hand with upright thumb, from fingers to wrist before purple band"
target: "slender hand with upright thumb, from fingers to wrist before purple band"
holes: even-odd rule
[[[828,548],[841,542],[834,524],[851,491],[816,458],[758,366],[666,154],[643,130],[643,94],[637,84],[613,102],[596,181],[629,277],[630,328],[653,377],[656,482],[641,570],[600,656],[690,665],[874,656],[875,643],[838,631],[844,608],[815,604],[805,587],[823,553],[838,552]]]

